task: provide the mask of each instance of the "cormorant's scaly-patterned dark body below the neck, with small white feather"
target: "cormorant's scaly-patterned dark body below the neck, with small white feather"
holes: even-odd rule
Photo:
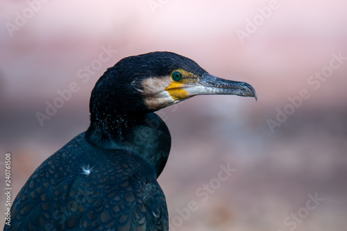
[[[153,166],[102,150],[81,133],[51,155],[17,195],[5,230],[168,230]]]

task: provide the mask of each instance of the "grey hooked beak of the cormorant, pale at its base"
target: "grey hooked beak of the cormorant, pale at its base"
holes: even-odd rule
[[[226,80],[212,76],[208,73],[196,83],[187,83],[181,86],[188,96],[208,95],[208,94],[234,94],[237,96],[254,97],[257,101],[257,93],[254,87],[248,83]]]

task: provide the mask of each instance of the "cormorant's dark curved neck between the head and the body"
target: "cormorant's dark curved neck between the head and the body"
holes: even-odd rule
[[[151,164],[157,177],[164,169],[171,148],[171,135],[158,115],[113,115],[104,119],[91,117],[85,133],[88,142],[104,149],[124,150]]]

